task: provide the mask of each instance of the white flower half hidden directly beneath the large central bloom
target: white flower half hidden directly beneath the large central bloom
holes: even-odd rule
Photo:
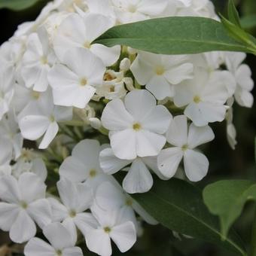
[[[112,175],[125,166],[132,165],[128,168],[128,173],[123,179],[123,189],[127,193],[145,193],[153,186],[153,178],[149,169],[160,174],[157,168],[157,157],[137,157],[133,160],[121,160],[114,155],[111,148],[103,149],[99,154],[99,163],[103,172]],[[160,178],[162,176],[160,175]]]

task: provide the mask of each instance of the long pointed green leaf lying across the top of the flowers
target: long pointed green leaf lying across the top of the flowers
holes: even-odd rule
[[[203,53],[212,50],[250,52],[218,21],[203,17],[166,17],[115,26],[94,43],[126,45],[163,54]]]

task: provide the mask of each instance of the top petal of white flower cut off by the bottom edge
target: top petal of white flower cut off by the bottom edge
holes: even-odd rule
[[[63,227],[59,222],[44,227],[43,233],[56,250],[74,246],[69,230],[67,230],[66,227]]]

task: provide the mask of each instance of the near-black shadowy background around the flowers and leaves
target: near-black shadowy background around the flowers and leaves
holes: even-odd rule
[[[37,5],[26,11],[13,12],[5,9],[0,10],[0,44],[13,35],[20,23],[35,20],[35,17],[38,16],[41,8],[46,2],[47,0],[41,0]],[[227,0],[214,0],[213,2],[215,3],[218,12],[226,14]],[[240,0],[236,1],[236,3],[242,17],[249,14],[256,14],[256,0]],[[249,32],[256,35],[256,30],[254,29],[251,29]],[[248,56],[246,62],[251,67],[254,81],[256,81],[256,57]],[[253,93],[255,97],[255,89]],[[236,146],[235,151],[231,150],[227,144],[226,124],[215,123],[213,125],[216,139],[205,148],[206,155],[210,161],[210,169],[209,175],[200,182],[199,185],[201,187],[204,187],[212,181],[217,181],[223,178],[250,178],[256,181],[256,168],[254,164],[254,138],[256,131],[255,110],[255,105],[251,109],[241,108],[238,105],[235,106],[234,123],[236,125],[238,140],[238,145]],[[245,206],[245,211],[242,213],[242,216],[235,224],[235,228],[242,236],[246,246],[248,246],[250,242],[253,213],[253,204],[248,203]],[[11,242],[9,241],[7,234],[0,233],[0,256],[5,255],[1,252],[1,245],[5,244],[11,245]],[[19,251],[19,248],[17,248],[17,251]],[[89,255],[90,253],[84,251],[84,254]],[[13,253],[12,255],[21,254]],[[114,252],[114,255],[121,254]],[[139,242],[136,243],[131,251],[124,255],[218,256],[232,254],[228,254],[227,251],[218,251],[218,248],[214,245],[208,245],[194,239],[182,239],[179,241],[172,236],[172,233],[169,230],[166,230],[163,227],[149,227],[145,225],[145,235],[142,239],[139,239]]]

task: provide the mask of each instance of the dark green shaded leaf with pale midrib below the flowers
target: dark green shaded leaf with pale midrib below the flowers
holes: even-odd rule
[[[234,254],[245,255],[237,242],[239,239],[221,239],[218,219],[204,205],[202,192],[187,181],[176,178],[160,181],[156,178],[148,193],[134,194],[133,198],[170,230],[215,243]]]

